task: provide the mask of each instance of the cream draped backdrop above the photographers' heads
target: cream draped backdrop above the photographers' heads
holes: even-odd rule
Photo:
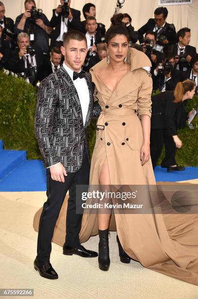
[[[16,17],[24,12],[24,0],[1,0],[6,8],[6,16],[14,21]],[[81,20],[84,20],[82,7],[91,2],[96,5],[97,21],[103,22],[109,27],[110,17],[113,15],[117,0],[72,0],[71,7],[81,11]],[[59,0],[36,0],[37,8],[42,8],[50,20],[52,9],[60,4]],[[154,10],[158,7],[158,0],[125,0],[121,12],[126,12],[132,17],[132,25],[138,30],[149,18],[154,17]],[[191,45],[198,50],[198,0],[193,4],[167,5],[167,22],[174,23],[176,30],[181,27],[191,28]]]

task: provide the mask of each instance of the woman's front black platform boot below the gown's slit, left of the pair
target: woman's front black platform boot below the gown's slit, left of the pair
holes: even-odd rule
[[[99,245],[98,245],[98,264],[100,270],[108,271],[110,265],[109,248],[108,248],[108,229],[99,230]]]

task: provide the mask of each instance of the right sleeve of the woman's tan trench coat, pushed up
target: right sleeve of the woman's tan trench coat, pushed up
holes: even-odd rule
[[[143,70],[141,73],[142,84],[138,90],[137,104],[138,104],[138,115],[141,118],[142,115],[146,114],[151,117],[151,93],[153,88],[153,81],[151,75]]]

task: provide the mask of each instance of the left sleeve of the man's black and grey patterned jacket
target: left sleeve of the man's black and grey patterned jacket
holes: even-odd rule
[[[53,146],[52,129],[57,93],[53,82],[45,79],[40,83],[35,114],[35,134],[38,147],[43,157],[44,166],[48,168],[60,162]]]

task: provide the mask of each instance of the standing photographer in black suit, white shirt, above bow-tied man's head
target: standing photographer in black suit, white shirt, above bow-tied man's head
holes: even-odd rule
[[[61,47],[63,45],[63,35],[69,30],[74,29],[83,31],[80,21],[80,11],[70,8],[71,0],[69,0],[67,4],[67,7],[69,8],[69,15],[66,13],[66,9],[62,8],[64,5],[64,0],[60,0],[60,3],[61,5],[58,5],[56,9],[53,9],[53,16],[50,21],[51,27],[55,28],[50,44],[51,49],[54,46]]]

